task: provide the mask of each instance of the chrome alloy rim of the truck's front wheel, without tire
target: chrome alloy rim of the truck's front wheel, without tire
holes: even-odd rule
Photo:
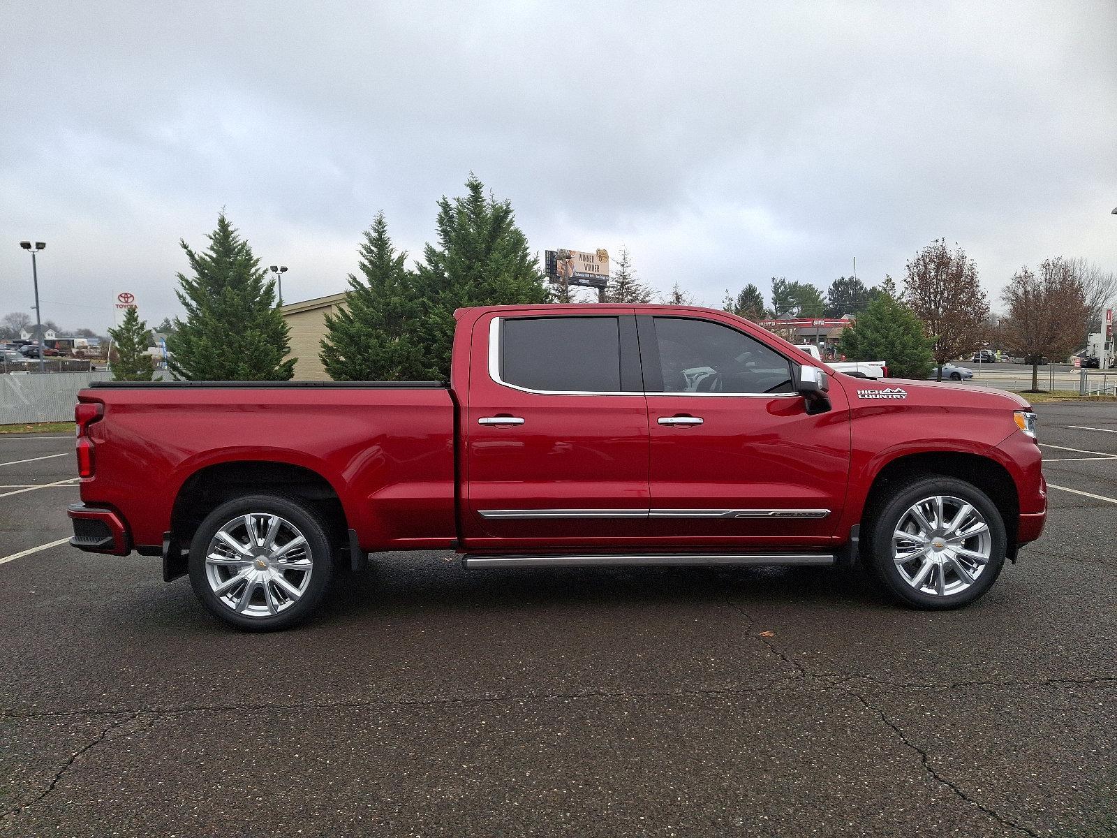
[[[892,561],[904,581],[937,597],[960,593],[976,582],[992,549],[985,517],[951,495],[917,501],[892,533]]]

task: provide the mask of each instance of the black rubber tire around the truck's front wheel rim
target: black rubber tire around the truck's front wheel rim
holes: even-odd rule
[[[892,558],[892,533],[907,511],[923,498],[949,495],[971,504],[985,518],[990,533],[990,559],[968,588],[938,596],[917,590],[904,578]],[[945,517],[945,516],[944,516]],[[1006,537],[996,505],[976,486],[954,477],[919,475],[889,486],[867,512],[868,537],[861,540],[861,561],[873,581],[892,599],[923,610],[962,608],[993,587],[1004,566]]]

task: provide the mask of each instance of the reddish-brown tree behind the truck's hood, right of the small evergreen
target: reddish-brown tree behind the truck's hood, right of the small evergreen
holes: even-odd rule
[[[939,381],[943,364],[973,351],[989,316],[989,299],[977,283],[977,266],[961,247],[932,241],[907,264],[904,293],[935,342],[932,355]]]

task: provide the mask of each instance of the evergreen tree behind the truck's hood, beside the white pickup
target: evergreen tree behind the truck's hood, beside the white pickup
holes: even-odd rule
[[[839,351],[850,361],[886,361],[891,378],[925,379],[930,374],[932,346],[934,341],[915,313],[881,292],[842,332]]]

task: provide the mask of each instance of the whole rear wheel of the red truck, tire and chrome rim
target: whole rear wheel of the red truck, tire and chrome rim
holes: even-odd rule
[[[318,514],[299,501],[251,495],[222,504],[190,544],[190,584],[211,613],[248,631],[305,620],[333,574]]]

